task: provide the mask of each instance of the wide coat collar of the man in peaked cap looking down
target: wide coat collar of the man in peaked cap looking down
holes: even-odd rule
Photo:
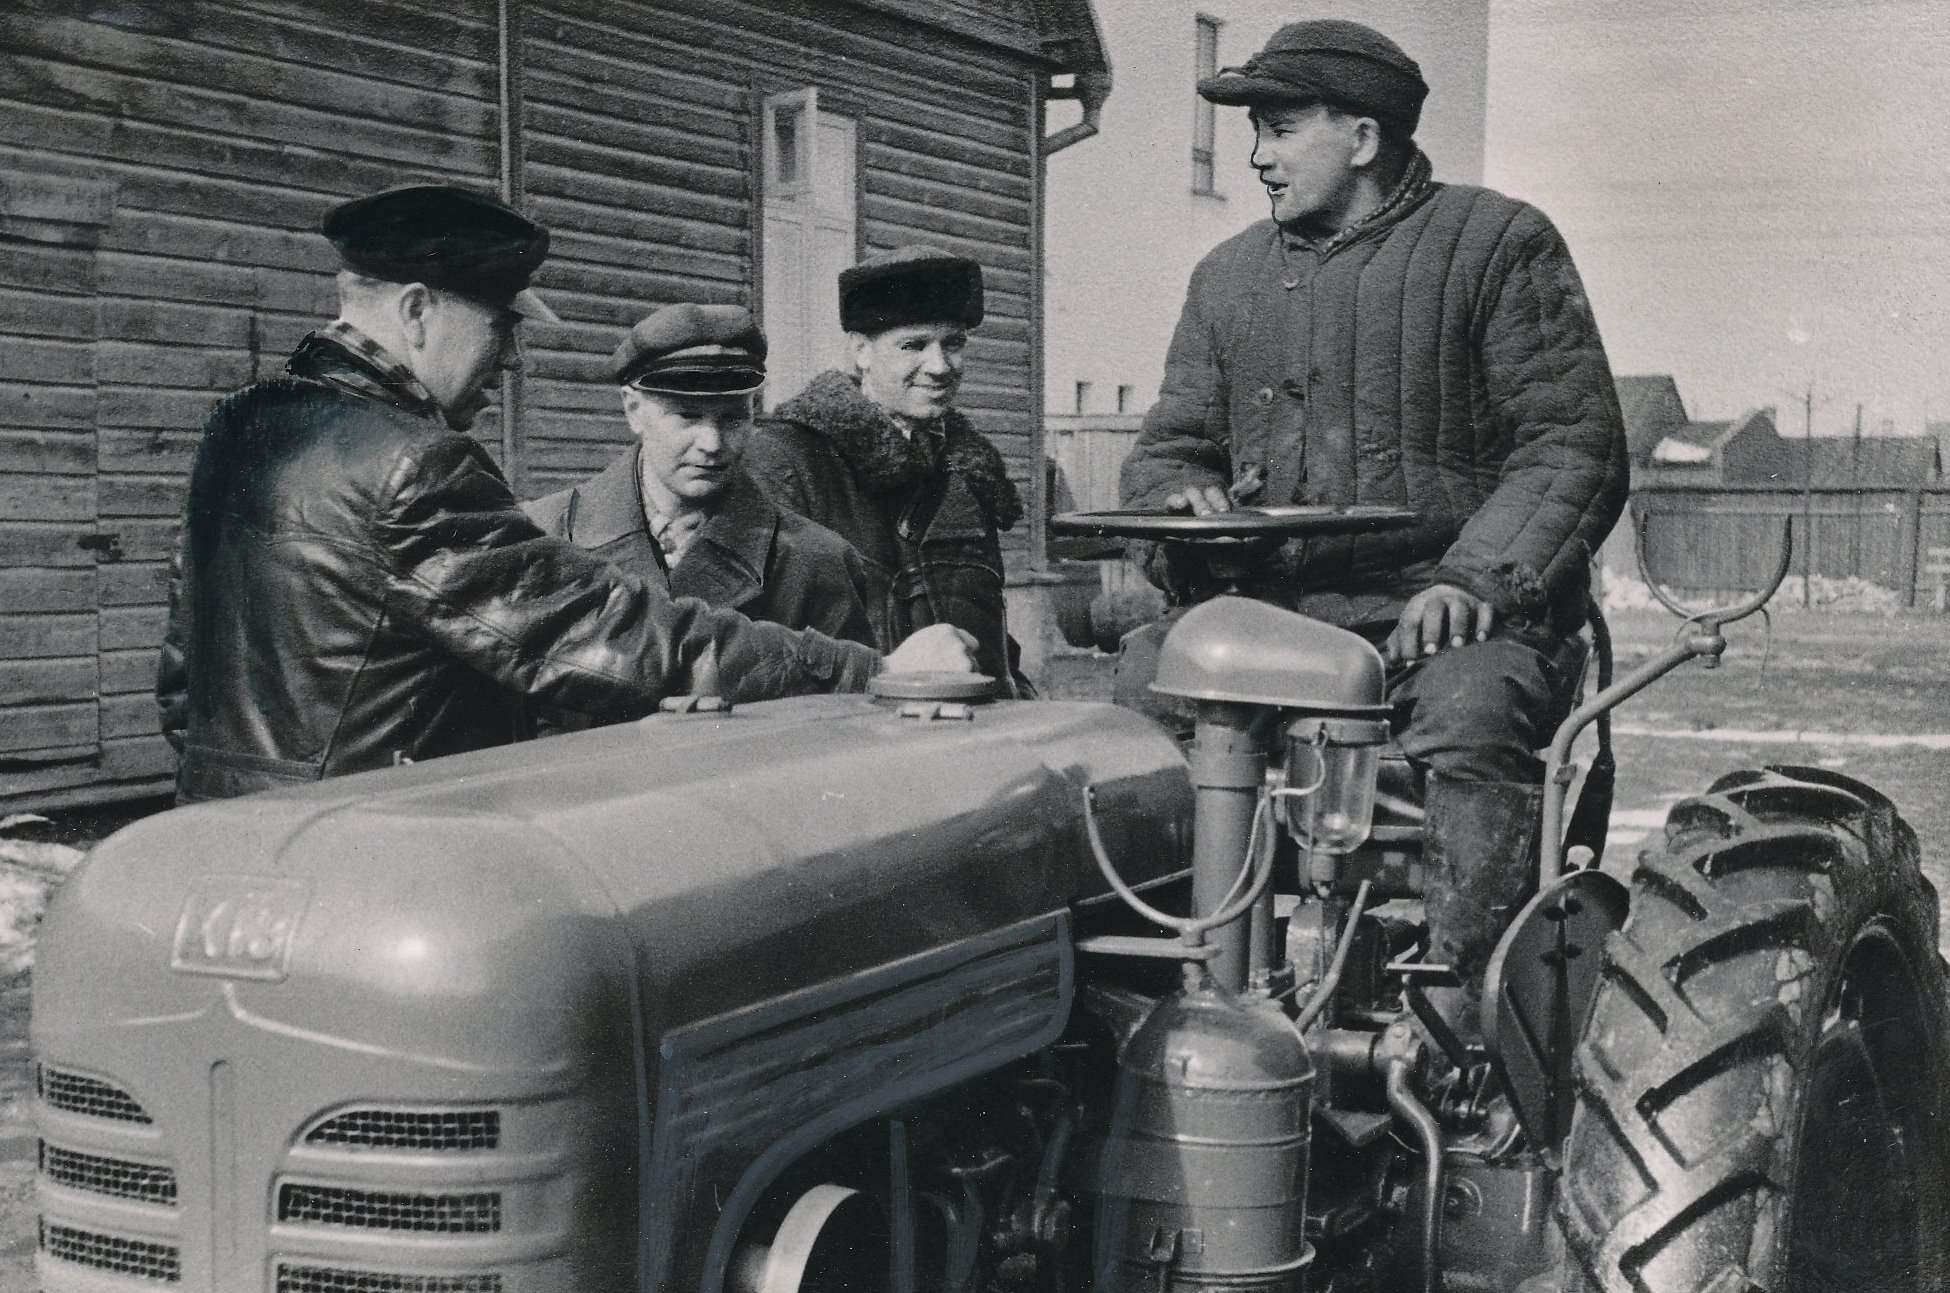
[[[644,447],[632,445],[577,490],[573,538],[583,548],[642,542],[661,564],[663,552],[644,515]],[[764,583],[764,568],[778,532],[778,507],[745,474],[733,468],[718,503],[698,529],[684,560],[671,575],[671,591],[702,597],[716,607],[735,607]]]

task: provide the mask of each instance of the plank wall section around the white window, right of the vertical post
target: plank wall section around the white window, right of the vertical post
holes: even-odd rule
[[[897,18],[737,0],[530,2],[526,189],[556,230],[536,281],[566,328],[528,341],[530,493],[599,470],[626,441],[608,353],[673,300],[757,308],[755,101],[819,88],[854,117],[862,254],[909,242],[973,255],[989,318],[963,408],[1028,497],[1032,121],[1020,59]],[[794,392],[774,392],[790,396]],[[1028,527],[1006,546],[1022,562]]]

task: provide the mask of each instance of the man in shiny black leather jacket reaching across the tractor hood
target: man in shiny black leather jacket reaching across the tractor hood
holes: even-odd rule
[[[445,185],[332,211],[339,318],[211,413],[156,681],[177,796],[209,800],[523,735],[526,700],[622,718],[667,694],[860,688],[885,661],[671,599],[542,534],[464,431],[515,363],[548,232]]]

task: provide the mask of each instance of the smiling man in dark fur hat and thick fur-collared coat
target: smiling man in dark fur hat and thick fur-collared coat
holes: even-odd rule
[[[998,532],[1022,519],[1002,454],[956,411],[981,265],[926,246],[840,273],[852,372],[821,372],[760,419],[745,452],[776,501],[866,558],[881,644],[922,624],[975,636],[975,667],[1018,696]]]

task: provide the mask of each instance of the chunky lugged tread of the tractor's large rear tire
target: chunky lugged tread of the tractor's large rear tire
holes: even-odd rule
[[[1823,768],[1732,774],[1671,809],[1576,1055],[1564,1293],[1654,1293],[1654,1264],[1656,1293],[1767,1287],[1794,1067],[1827,975],[1892,909],[1942,965],[1917,858],[1884,796]]]

